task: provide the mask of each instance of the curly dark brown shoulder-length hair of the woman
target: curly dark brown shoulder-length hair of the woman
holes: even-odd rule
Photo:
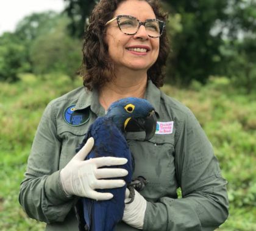
[[[89,25],[84,35],[83,61],[79,69],[79,74],[84,79],[84,86],[89,90],[92,88],[99,89],[115,78],[113,61],[108,56],[108,46],[104,41],[105,23],[112,19],[113,13],[123,1],[127,0],[101,0],[94,7],[89,18]],[[155,16],[166,21],[168,14],[161,10],[158,0],[141,1],[148,2],[154,10]],[[157,88],[163,86],[168,53],[169,43],[164,31],[160,36],[158,58],[148,70],[148,78],[152,80]]]

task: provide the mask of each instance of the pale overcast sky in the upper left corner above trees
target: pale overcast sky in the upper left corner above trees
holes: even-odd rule
[[[34,12],[64,9],[64,0],[0,0],[0,35],[13,32],[18,21]]]

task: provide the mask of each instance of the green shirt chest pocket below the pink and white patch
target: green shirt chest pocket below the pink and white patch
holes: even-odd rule
[[[133,178],[143,176],[148,180],[141,195],[152,201],[163,196],[176,197],[174,135],[155,134],[150,140],[143,137],[143,134],[127,134],[135,161]]]

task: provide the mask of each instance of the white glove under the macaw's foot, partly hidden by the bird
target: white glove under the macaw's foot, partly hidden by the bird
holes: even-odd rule
[[[126,188],[126,199],[125,203],[130,201],[130,191]],[[123,221],[129,224],[129,226],[137,229],[143,229],[144,216],[146,212],[147,201],[143,196],[135,190],[134,200],[130,204],[125,204]]]

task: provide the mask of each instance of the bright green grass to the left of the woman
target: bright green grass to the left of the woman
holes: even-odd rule
[[[0,83],[0,230],[44,230],[18,203],[20,182],[44,108],[55,97],[80,85],[66,76],[21,75],[15,84]]]

